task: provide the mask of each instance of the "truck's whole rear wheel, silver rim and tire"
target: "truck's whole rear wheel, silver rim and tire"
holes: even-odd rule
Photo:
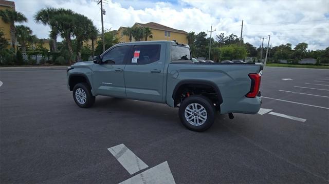
[[[215,108],[211,101],[202,95],[192,95],[179,106],[181,123],[190,130],[202,132],[214,122]]]

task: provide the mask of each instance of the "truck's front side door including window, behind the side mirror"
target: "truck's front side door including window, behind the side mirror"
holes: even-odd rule
[[[93,83],[98,95],[126,97],[125,61],[131,46],[117,46],[101,55],[102,64],[93,66]]]

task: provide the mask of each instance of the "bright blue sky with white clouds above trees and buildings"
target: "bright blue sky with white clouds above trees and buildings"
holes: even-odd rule
[[[16,11],[28,18],[33,34],[48,38],[50,28],[35,24],[33,15],[42,8],[67,8],[89,17],[101,30],[100,5],[97,0],[16,0]],[[123,1],[103,0],[104,29],[117,30],[134,23],[155,22],[186,32],[216,30],[243,38],[255,47],[268,38],[272,47],[291,43],[293,47],[305,42],[309,50],[329,46],[329,1]],[[208,37],[210,35],[208,34]],[[268,39],[264,39],[264,46]]]

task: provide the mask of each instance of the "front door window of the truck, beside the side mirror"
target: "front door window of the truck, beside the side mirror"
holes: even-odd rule
[[[129,52],[129,46],[119,46],[111,49],[102,57],[102,61],[107,64],[123,65],[124,57]]]

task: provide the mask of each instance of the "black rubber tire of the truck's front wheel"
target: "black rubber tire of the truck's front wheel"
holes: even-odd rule
[[[77,99],[76,91],[79,89],[84,91],[86,94],[86,99],[79,102],[79,99]],[[79,93],[79,92],[78,92]],[[87,83],[78,83],[73,88],[73,99],[76,102],[76,104],[81,108],[88,108],[92,107],[95,103],[95,96],[93,96],[92,92],[90,91],[90,86]],[[79,95],[78,95],[79,96]],[[84,103],[83,103],[84,102]]]

